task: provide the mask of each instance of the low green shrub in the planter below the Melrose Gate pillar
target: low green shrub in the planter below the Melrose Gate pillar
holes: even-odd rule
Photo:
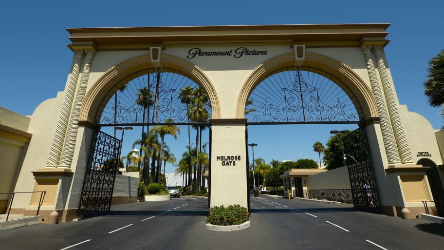
[[[248,210],[240,205],[230,205],[226,208],[222,205],[210,208],[205,222],[217,226],[232,226],[248,221],[249,217]]]

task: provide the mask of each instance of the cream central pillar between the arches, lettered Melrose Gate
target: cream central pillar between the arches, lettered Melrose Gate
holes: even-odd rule
[[[248,207],[246,119],[211,119],[210,207]]]

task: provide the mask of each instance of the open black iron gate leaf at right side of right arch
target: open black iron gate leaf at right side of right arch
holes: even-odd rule
[[[342,140],[354,208],[364,212],[381,213],[381,200],[364,128],[343,135]]]

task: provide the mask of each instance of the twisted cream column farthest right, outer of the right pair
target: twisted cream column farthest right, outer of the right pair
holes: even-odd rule
[[[413,163],[413,157],[411,154],[410,145],[407,141],[406,133],[401,121],[401,116],[398,112],[398,104],[395,100],[393,88],[391,87],[390,78],[388,77],[386,64],[382,56],[383,48],[381,46],[373,47],[375,58],[378,63],[379,76],[382,81],[382,89],[386,96],[386,102],[388,107],[388,115],[390,115],[391,126],[395,135],[396,144],[398,146],[399,155],[401,156],[402,163]]]

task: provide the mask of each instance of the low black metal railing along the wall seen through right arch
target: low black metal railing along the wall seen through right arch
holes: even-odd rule
[[[353,204],[351,189],[307,189],[305,198]]]

